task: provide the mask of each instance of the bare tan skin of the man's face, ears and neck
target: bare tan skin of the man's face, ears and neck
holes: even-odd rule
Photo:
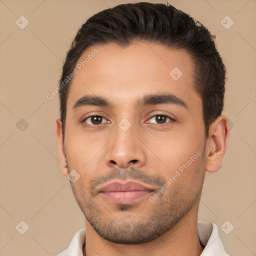
[[[78,62],[95,48],[98,54],[72,80],[64,141],[56,120],[60,171],[67,175],[75,169],[80,175],[70,184],[86,217],[83,255],[200,255],[197,213],[204,173],[220,168],[226,117],[219,116],[205,138],[193,60],[185,50],[151,42],[128,47],[109,43],[87,48]],[[169,75],[174,67],[182,71],[178,80]],[[147,94],[164,93],[186,107],[173,102],[136,105]],[[74,108],[85,95],[102,96],[112,106]],[[104,118],[85,119],[96,114]],[[131,124],[126,131],[118,126],[123,118]],[[200,155],[151,202],[149,196],[196,152]],[[153,191],[132,203],[115,203],[97,189],[116,180],[137,181]]]

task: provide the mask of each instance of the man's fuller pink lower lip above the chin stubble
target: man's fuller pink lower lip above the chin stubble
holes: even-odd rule
[[[149,193],[151,193],[151,191],[148,190],[101,192],[108,200],[123,204],[136,201]]]

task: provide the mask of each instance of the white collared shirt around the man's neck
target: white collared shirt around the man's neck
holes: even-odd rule
[[[204,245],[200,256],[228,256],[218,235],[217,225],[210,222],[197,222],[199,240]],[[56,256],[83,256],[82,247],[85,243],[85,228],[76,232],[67,249]]]

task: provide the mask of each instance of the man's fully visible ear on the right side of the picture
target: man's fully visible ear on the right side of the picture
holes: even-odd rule
[[[206,142],[206,166],[205,171],[214,172],[221,167],[226,142],[229,135],[227,118],[218,116],[210,125],[209,136]]]

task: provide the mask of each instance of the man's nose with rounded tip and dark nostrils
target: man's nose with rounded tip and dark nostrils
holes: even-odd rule
[[[126,131],[117,126],[115,136],[107,143],[105,161],[110,167],[138,168],[145,164],[145,146],[132,126]]]

